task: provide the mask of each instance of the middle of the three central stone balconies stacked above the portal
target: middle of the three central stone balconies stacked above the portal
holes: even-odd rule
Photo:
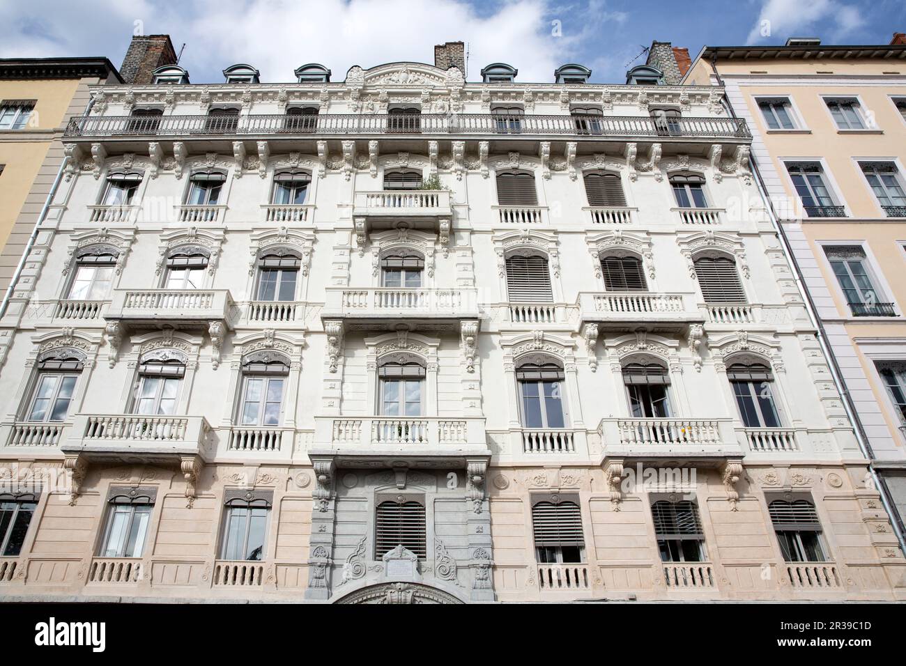
[[[390,323],[478,318],[477,289],[396,289],[388,287],[327,287],[322,319]],[[392,327],[390,327],[392,328]]]

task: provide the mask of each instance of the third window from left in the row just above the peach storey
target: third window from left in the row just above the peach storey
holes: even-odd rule
[[[256,352],[243,360],[241,425],[280,425],[288,375],[288,359]]]

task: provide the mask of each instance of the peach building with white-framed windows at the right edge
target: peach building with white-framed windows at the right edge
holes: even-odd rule
[[[708,47],[783,225],[882,491],[906,518],[906,35]]]

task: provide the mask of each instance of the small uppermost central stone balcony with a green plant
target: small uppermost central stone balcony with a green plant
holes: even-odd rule
[[[405,219],[413,228],[439,232],[439,220],[452,216],[450,193],[447,190],[383,190],[356,192],[352,217],[365,219],[367,232],[393,227]]]

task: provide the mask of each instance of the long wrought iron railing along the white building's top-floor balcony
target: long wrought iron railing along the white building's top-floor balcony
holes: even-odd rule
[[[500,123],[490,113],[424,114],[418,122],[400,124],[400,117],[386,114],[328,113],[299,126],[297,117],[257,114],[211,122],[207,115],[160,116],[154,122],[136,122],[133,116],[73,118],[64,136],[92,137],[260,137],[287,135],[428,134],[428,135],[567,135],[589,136],[568,115],[521,116],[517,127]],[[602,116],[593,136],[663,139],[664,133],[649,116]],[[750,139],[746,121],[736,118],[680,118],[669,138]]]

